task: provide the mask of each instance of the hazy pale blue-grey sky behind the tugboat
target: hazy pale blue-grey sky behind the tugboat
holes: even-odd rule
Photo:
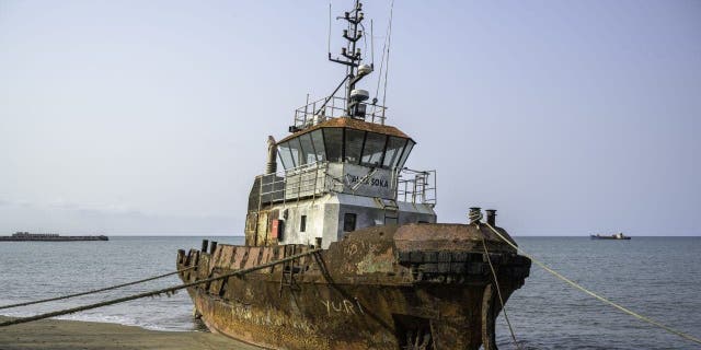
[[[343,78],[327,39],[325,1],[0,0],[0,234],[241,235],[267,136]],[[700,1],[398,0],[388,77],[440,222],[701,234]]]

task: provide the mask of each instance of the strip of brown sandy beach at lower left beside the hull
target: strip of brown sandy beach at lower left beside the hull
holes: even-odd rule
[[[0,322],[9,319],[0,316]],[[232,349],[260,350],[203,331],[158,331],[117,324],[44,319],[0,328],[0,350]]]

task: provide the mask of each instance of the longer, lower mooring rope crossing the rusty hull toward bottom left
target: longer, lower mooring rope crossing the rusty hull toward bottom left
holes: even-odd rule
[[[119,304],[119,303],[124,303],[124,302],[128,302],[128,301],[133,301],[133,300],[137,300],[137,299],[159,295],[159,294],[163,294],[163,293],[173,293],[173,292],[175,292],[177,290],[189,288],[189,287],[194,287],[194,285],[197,285],[197,284],[209,283],[209,282],[212,282],[212,281],[216,281],[216,280],[226,279],[226,278],[229,278],[229,277],[246,275],[249,272],[253,272],[253,271],[261,270],[261,269],[264,269],[264,268],[268,268],[268,267],[272,267],[272,266],[275,266],[275,265],[279,265],[279,264],[283,264],[283,262],[295,260],[295,259],[298,259],[300,257],[303,257],[303,256],[307,256],[307,255],[312,255],[312,254],[315,254],[315,253],[319,253],[319,252],[321,252],[321,249],[312,249],[312,250],[309,250],[309,252],[306,252],[306,253],[301,253],[301,254],[297,254],[297,255],[292,255],[292,256],[289,256],[287,258],[279,259],[279,260],[276,260],[276,261],[262,264],[262,265],[254,266],[254,267],[251,267],[251,268],[248,268],[248,269],[235,270],[233,272],[225,273],[225,275],[221,275],[221,276],[218,276],[218,277],[211,277],[211,278],[207,278],[207,279],[204,279],[204,280],[198,280],[198,281],[194,281],[194,282],[189,282],[189,283],[185,283],[185,284],[174,285],[174,287],[170,287],[170,288],[159,289],[159,290],[156,290],[156,291],[145,292],[145,293],[124,296],[124,298],[118,298],[118,299],[113,299],[113,300],[104,301],[104,302],[101,302],[101,303],[83,305],[83,306],[78,306],[78,307],[72,307],[72,308],[67,308],[67,310],[59,310],[59,311],[55,311],[55,312],[50,312],[50,313],[46,313],[46,314],[41,314],[41,315],[35,315],[35,316],[15,318],[15,319],[11,319],[11,320],[8,320],[8,322],[0,323],[0,327],[25,324],[25,323],[33,322],[33,320],[39,320],[39,319],[49,318],[49,317],[56,317],[56,316],[73,314],[73,313],[81,312],[81,311],[87,311],[87,310],[91,310],[91,308],[97,308],[97,307]]]

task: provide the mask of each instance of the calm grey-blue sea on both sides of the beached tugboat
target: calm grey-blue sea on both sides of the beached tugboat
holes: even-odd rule
[[[111,237],[110,242],[0,242],[0,304],[57,296],[174,270],[179,248],[203,237]],[[241,237],[214,237],[241,244]],[[516,237],[528,253],[584,287],[663,324],[701,337],[701,237]],[[0,310],[28,316],[177,284],[172,276],[78,299]],[[699,349],[576,291],[533,265],[507,303],[525,349]],[[193,330],[186,292],[92,310],[65,319]],[[499,349],[515,349],[503,314]]]

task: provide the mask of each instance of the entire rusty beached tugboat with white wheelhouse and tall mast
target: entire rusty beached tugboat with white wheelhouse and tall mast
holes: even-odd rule
[[[524,284],[530,260],[495,234],[512,241],[495,210],[484,222],[479,208],[468,223],[437,222],[436,172],[405,167],[415,141],[356,88],[375,68],[356,48],[361,9],[356,1],[340,18],[347,46],[329,55],[346,68],[336,91],[298,108],[289,136],[268,137],[245,244],[179,250],[180,278],[313,252],[188,288],[196,316],[271,349],[496,349],[499,293],[506,302]]]

